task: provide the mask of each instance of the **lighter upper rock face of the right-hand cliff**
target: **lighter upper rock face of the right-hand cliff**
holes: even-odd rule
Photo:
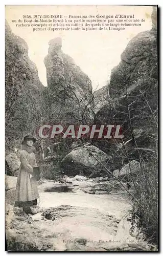
[[[157,79],[156,30],[137,34],[121,55],[120,64],[111,72],[109,93],[112,98],[132,93],[137,88],[146,89],[148,82],[154,89]],[[145,83],[144,83],[145,81]],[[152,86],[153,85],[153,86]]]

